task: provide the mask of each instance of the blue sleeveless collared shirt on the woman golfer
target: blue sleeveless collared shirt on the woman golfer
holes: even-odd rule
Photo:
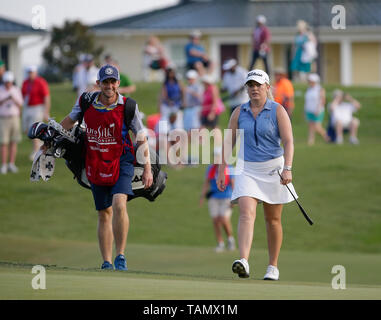
[[[238,157],[244,161],[264,162],[283,155],[276,117],[280,105],[267,99],[262,111],[254,118],[250,101],[241,106],[238,129],[243,129],[244,144],[240,146]],[[241,138],[242,139],[242,138]],[[241,140],[242,142],[242,140]]]

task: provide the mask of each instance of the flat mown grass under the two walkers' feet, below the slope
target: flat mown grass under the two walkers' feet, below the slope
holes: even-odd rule
[[[281,281],[261,280],[267,253],[253,251],[251,277],[231,272],[235,252],[131,244],[129,271],[100,271],[95,243],[1,236],[0,299],[380,299],[381,257],[282,251]],[[12,248],[12,249],[10,249]],[[27,262],[26,262],[27,261]],[[46,267],[46,289],[31,286],[33,265]],[[334,290],[334,265],[346,267],[346,289]]]

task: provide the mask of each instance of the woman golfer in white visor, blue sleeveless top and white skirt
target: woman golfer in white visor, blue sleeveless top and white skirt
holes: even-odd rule
[[[243,129],[236,165],[232,202],[239,206],[238,245],[241,259],[232,269],[241,278],[249,277],[249,255],[258,203],[263,203],[268,239],[269,266],[265,280],[278,280],[278,256],[282,245],[281,214],[284,203],[293,201],[286,188],[291,184],[294,143],[286,110],[272,99],[270,79],[262,70],[252,70],[246,78],[250,101],[236,108],[230,118],[233,139],[224,143],[217,185],[224,190],[226,158],[236,142],[236,129]],[[244,139],[242,139],[244,138]],[[283,148],[281,146],[283,144]],[[226,151],[225,151],[226,149]],[[240,174],[238,174],[240,173]]]

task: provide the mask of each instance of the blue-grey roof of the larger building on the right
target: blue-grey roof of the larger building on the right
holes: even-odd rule
[[[186,0],[177,5],[99,23],[97,30],[165,30],[192,28],[251,28],[257,15],[270,27],[294,27],[297,20],[331,26],[335,5],[346,11],[347,26],[381,26],[379,0]]]

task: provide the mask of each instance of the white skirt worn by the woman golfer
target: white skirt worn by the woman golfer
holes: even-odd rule
[[[232,203],[240,197],[252,197],[269,204],[284,204],[294,201],[287,187],[280,184],[279,173],[282,173],[284,158],[279,157],[264,162],[238,161],[234,176]],[[243,166],[243,167],[242,167]],[[295,198],[298,198],[292,183],[287,185]]]

